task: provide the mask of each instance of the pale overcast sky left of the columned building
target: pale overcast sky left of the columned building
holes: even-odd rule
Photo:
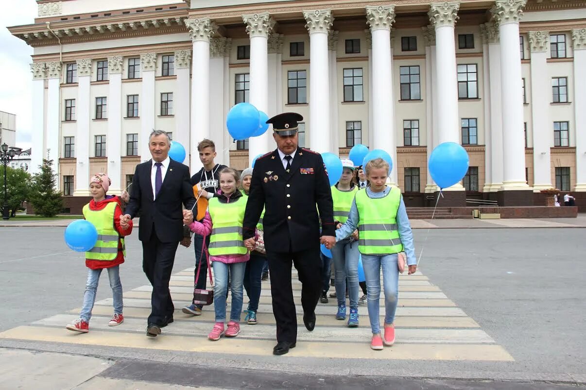
[[[28,149],[32,133],[33,50],[6,29],[35,22],[35,0],[0,0],[0,111],[16,114],[16,146]],[[12,146],[12,145],[11,145]]]

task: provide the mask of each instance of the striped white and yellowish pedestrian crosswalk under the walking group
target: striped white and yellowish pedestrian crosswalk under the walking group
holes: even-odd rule
[[[360,326],[349,328],[335,319],[336,299],[319,303],[316,327],[308,332],[302,322],[301,284],[293,274],[293,292],[300,325],[297,348],[287,356],[329,357],[396,360],[476,360],[512,361],[513,357],[484,332],[464,310],[458,308],[440,288],[425,275],[400,275],[399,301],[396,316],[397,341],[383,351],[369,348],[370,324],[367,307],[359,306]],[[235,339],[207,340],[213,327],[213,306],[206,307],[202,316],[192,317],[180,311],[192,299],[193,268],[171,277],[171,294],[175,302],[175,322],[163,328],[162,336],[145,336],[145,326],[151,307],[150,285],[124,293],[125,321],[109,327],[112,299],[96,302],[90,320],[90,333],[79,334],[64,329],[79,315],[79,308],[0,333],[2,339],[51,341],[102,347],[130,347],[148,350],[175,350],[200,353],[271,356],[275,344],[275,320],[272,316],[270,281],[263,282],[257,325],[242,323],[241,334]],[[228,300],[230,305],[230,299]],[[244,308],[246,308],[246,293]],[[381,323],[384,299],[380,302]],[[229,310],[228,308],[227,310]],[[242,316],[244,319],[244,314]],[[324,348],[324,346],[327,346]]]

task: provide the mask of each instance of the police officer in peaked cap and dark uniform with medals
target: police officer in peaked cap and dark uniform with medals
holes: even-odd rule
[[[315,327],[315,306],[321,292],[319,244],[328,248],[335,244],[328,173],[320,154],[297,146],[300,120],[303,117],[292,112],[267,120],[272,123],[277,149],[256,160],[244,213],[243,238],[251,250],[254,228],[265,208],[264,244],[271,274],[272,311],[277,322],[275,355],[288,353],[297,342],[291,265],[299,273],[303,322],[311,331]]]

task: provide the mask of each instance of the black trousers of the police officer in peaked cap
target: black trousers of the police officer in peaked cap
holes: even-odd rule
[[[302,283],[301,305],[304,313],[312,314],[321,293],[322,261],[319,246],[299,252],[267,251],[271,275],[272,312],[277,322],[277,341],[297,342],[297,313],[291,287],[291,265],[294,264]]]

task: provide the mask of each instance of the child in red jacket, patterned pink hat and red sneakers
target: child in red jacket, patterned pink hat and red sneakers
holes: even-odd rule
[[[121,200],[115,195],[106,195],[111,181],[105,173],[98,173],[90,179],[90,192],[93,199],[83,207],[83,216],[91,222],[98,232],[95,246],[86,252],[87,281],[83,296],[83,307],[79,319],[66,326],[74,332],[89,332],[91,310],[96,302],[96,291],[102,270],[108,270],[112,288],[114,315],[108,326],[124,322],[122,315],[122,284],[120,264],[124,263],[125,247],[122,237],[132,233],[132,221],[127,229],[120,226],[122,215]]]

